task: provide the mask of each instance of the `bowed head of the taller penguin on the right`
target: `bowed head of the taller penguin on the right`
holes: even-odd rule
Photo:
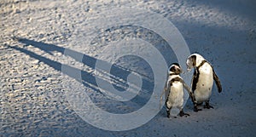
[[[200,66],[203,60],[205,59],[200,54],[190,54],[186,62],[188,71],[190,71],[191,68]]]

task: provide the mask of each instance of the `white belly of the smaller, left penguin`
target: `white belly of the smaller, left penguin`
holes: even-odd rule
[[[183,106],[183,83],[174,82],[170,88],[170,94],[168,96],[170,106],[182,107]]]

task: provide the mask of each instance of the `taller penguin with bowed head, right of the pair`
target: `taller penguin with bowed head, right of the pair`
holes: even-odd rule
[[[203,102],[205,102],[204,108],[213,108],[213,106],[210,106],[209,104],[213,81],[215,81],[217,85],[218,93],[222,91],[222,86],[212,65],[205,60],[201,54],[189,55],[186,64],[188,71],[190,71],[191,68],[195,68],[191,82],[192,92],[194,95],[194,111],[201,111],[198,106],[202,105]]]

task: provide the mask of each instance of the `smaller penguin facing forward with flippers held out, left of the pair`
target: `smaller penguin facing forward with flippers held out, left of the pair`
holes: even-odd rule
[[[183,78],[179,76],[182,69],[177,63],[173,63],[168,70],[168,76],[164,93],[166,93],[166,113],[167,117],[170,118],[170,111],[172,108],[179,110],[178,115],[180,117],[189,116],[188,113],[183,112],[183,88],[185,88],[189,95],[192,95],[191,88],[184,83]],[[162,95],[161,95],[162,96]]]

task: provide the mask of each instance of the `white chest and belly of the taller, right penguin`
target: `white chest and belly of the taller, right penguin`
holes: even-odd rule
[[[212,94],[213,72],[212,66],[205,63],[199,68],[198,82],[195,88],[195,100],[198,102],[209,100]]]

